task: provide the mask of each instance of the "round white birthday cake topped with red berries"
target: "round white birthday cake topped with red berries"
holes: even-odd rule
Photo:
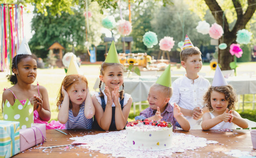
[[[137,120],[125,126],[127,147],[157,151],[172,147],[172,124],[165,121]]]

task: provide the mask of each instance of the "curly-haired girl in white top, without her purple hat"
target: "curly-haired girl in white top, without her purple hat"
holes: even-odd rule
[[[248,128],[248,123],[235,111],[237,96],[230,85],[211,86],[204,96],[209,113],[202,119],[202,129],[236,129],[235,124],[241,128]]]

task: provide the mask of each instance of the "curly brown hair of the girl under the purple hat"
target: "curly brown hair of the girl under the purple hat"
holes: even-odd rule
[[[208,91],[205,93],[203,99],[204,103],[208,107],[209,111],[213,111],[211,105],[211,93],[212,91],[218,91],[225,94],[225,99],[228,101],[228,110],[235,110],[235,103],[238,101],[236,93],[232,86],[210,86]]]

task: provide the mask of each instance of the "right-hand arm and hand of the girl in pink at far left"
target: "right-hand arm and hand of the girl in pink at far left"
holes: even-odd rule
[[[38,96],[34,96],[37,100],[36,111],[38,112],[39,117],[44,121],[49,121],[51,119],[51,110],[49,105],[49,97],[47,89],[44,86],[39,86],[39,90],[42,94],[42,99]]]

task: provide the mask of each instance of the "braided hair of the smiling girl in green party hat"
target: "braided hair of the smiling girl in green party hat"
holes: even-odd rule
[[[104,73],[105,73],[105,69],[107,69],[107,67],[110,67],[110,66],[118,66],[118,67],[121,67],[123,69],[123,64],[120,64],[120,63],[107,63],[107,62],[103,62],[101,64],[101,67],[100,67],[100,74],[102,76],[104,76]],[[102,81],[100,81],[100,84],[99,84],[99,89],[100,89],[100,95],[99,96],[104,96],[104,94],[102,93],[101,91],[101,84],[102,84]],[[120,91],[119,93],[119,97],[121,97],[121,99],[123,99],[123,94],[124,94],[124,84],[122,84],[123,86],[123,89],[122,91]],[[121,100],[120,99],[120,100]]]

